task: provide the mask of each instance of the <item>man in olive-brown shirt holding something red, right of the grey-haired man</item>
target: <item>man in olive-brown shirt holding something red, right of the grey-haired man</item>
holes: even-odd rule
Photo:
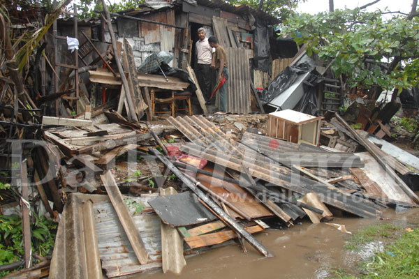
[[[221,84],[219,87],[220,92],[220,107],[218,114],[225,114],[226,113],[226,103],[227,103],[227,94],[228,94],[228,68],[227,68],[227,56],[226,50],[219,45],[218,40],[211,36],[208,39],[211,47],[215,48],[214,53],[214,68],[216,68],[216,81],[217,83]]]

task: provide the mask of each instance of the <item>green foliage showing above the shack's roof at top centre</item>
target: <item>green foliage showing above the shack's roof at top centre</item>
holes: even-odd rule
[[[270,13],[274,17],[278,17],[281,22],[288,20],[288,17],[294,13],[298,3],[304,2],[305,0],[277,0],[277,1],[262,1],[263,5],[260,10],[265,13]],[[251,8],[259,9],[260,0],[233,0],[226,1],[232,5],[247,5]]]

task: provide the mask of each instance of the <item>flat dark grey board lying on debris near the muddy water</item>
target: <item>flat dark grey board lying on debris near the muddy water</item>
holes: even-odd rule
[[[163,223],[172,227],[196,225],[216,219],[196,195],[184,192],[176,195],[156,197],[149,201]]]

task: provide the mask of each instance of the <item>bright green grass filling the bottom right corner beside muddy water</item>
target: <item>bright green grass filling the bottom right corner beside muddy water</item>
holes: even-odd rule
[[[397,241],[376,252],[369,262],[362,264],[365,275],[353,276],[341,269],[335,271],[338,279],[394,279],[419,278],[419,229],[404,230]]]

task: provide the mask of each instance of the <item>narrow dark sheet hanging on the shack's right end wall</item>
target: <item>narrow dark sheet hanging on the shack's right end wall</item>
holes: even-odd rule
[[[255,70],[269,72],[269,33],[265,22],[256,20],[256,29],[253,31]]]

